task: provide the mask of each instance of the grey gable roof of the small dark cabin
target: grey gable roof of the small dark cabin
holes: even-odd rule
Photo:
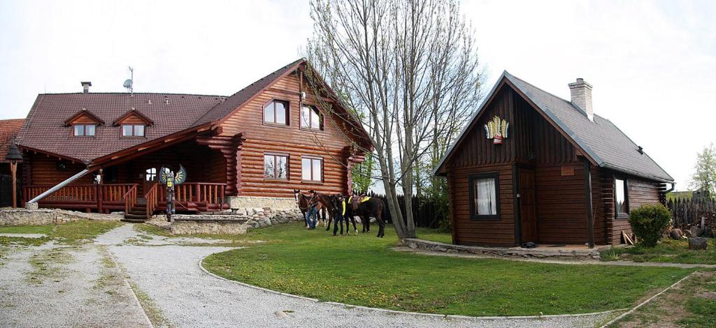
[[[660,182],[674,181],[674,178],[662,167],[659,167],[659,164],[649,155],[645,152],[644,154],[639,153],[639,146],[608,119],[595,114],[594,121],[590,121],[586,113],[571,101],[543,91],[507,71],[503,72],[488,97],[480,105],[480,109],[473,114],[470,123],[465,126],[458,139],[450,146],[448,153],[437,165],[435,174],[441,172],[442,167],[455,152],[456,146],[468,134],[468,130],[475,125],[480,114],[486,109],[489,100],[500,89],[498,86],[505,84],[515,89],[517,94],[520,94],[535,109],[547,116],[548,121],[552,121],[556,128],[561,129],[567,139],[576,144],[582,153],[597,166]]]

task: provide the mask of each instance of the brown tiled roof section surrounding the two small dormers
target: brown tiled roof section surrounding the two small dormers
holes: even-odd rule
[[[149,104],[148,99],[151,99]],[[77,93],[39,94],[17,137],[21,146],[89,162],[100,156],[188,129],[222,96],[196,94]],[[167,103],[168,101],[168,103]],[[111,124],[97,126],[95,136],[72,136],[64,121],[82,108],[103,121],[115,121],[134,107],[154,121],[145,137],[122,137]]]

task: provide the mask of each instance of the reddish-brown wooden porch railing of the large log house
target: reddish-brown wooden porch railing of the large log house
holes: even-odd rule
[[[46,192],[52,185],[22,187],[22,204]],[[72,184],[57,190],[38,202],[39,207],[84,210],[86,212],[143,212],[146,218],[167,207],[163,185],[152,184],[145,194],[140,184]],[[187,182],[175,186],[177,212],[218,211],[228,209],[224,203],[226,184]]]

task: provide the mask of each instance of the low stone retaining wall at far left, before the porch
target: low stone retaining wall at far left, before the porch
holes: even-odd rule
[[[44,225],[92,219],[91,214],[64,209],[0,209],[0,226]]]

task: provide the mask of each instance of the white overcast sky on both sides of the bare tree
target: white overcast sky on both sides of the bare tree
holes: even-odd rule
[[[464,1],[490,89],[503,70],[569,99],[594,85],[594,111],[687,189],[716,142],[716,1]],[[39,93],[230,95],[301,56],[304,1],[0,0],[0,119]]]

